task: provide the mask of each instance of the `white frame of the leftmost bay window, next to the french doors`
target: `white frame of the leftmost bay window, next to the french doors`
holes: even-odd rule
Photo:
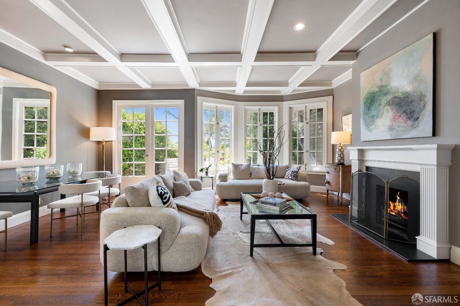
[[[214,98],[206,98],[206,97],[197,97],[197,115],[196,115],[196,175],[200,176],[202,173],[199,170],[204,166],[204,146],[203,146],[203,111],[205,108],[214,108],[217,110],[230,110],[230,162],[229,165],[222,165],[217,166],[214,164],[209,169],[211,174],[216,174],[219,171],[228,171],[231,162],[235,162],[236,151],[238,150],[238,146],[235,141],[235,128],[237,124],[236,119],[236,102],[229,101],[229,100],[221,100],[221,99],[214,99]],[[219,118],[219,112],[216,111],[216,117]],[[217,119],[216,118],[216,119]],[[219,125],[216,121],[216,128],[215,128],[215,145],[214,145],[214,160],[216,161],[218,157],[218,148],[220,147],[219,143]]]

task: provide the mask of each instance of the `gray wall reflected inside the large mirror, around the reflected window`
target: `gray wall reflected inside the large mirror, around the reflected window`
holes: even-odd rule
[[[1,93],[1,92],[0,92]],[[13,128],[13,99],[35,98],[49,99],[50,93],[39,88],[3,87],[1,107],[1,160],[11,161],[12,128]]]

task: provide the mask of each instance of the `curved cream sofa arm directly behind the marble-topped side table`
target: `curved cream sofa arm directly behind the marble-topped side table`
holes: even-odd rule
[[[161,228],[161,253],[164,253],[171,247],[179,233],[180,216],[177,210],[173,208],[112,207],[105,209],[101,213],[100,224],[101,263],[104,262],[104,239],[109,237],[109,235],[114,231],[121,230],[124,227],[132,225],[155,225]],[[137,251],[138,250],[133,250],[132,252],[128,251],[128,257],[131,259],[133,259],[133,257],[136,259],[139,257],[138,260],[128,260],[128,262],[131,262],[131,264],[128,265],[129,271],[144,271],[144,251]],[[149,254],[148,268],[149,271],[152,271],[154,270],[152,258],[154,253],[157,252],[156,243],[149,244],[147,251]],[[107,266],[109,271],[124,271],[123,251],[108,252]]]

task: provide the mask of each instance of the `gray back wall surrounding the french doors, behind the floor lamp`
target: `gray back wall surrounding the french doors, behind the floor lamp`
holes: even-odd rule
[[[99,90],[98,126],[112,126],[113,100],[184,100],[184,171],[190,178],[196,171],[196,98],[195,89],[137,89]],[[105,146],[105,168],[112,170],[112,145]],[[102,170],[102,144],[99,145],[98,165]]]

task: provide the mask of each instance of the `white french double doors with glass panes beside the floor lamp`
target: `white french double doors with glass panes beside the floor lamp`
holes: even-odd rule
[[[183,103],[116,103],[115,171],[122,185],[183,171]]]

